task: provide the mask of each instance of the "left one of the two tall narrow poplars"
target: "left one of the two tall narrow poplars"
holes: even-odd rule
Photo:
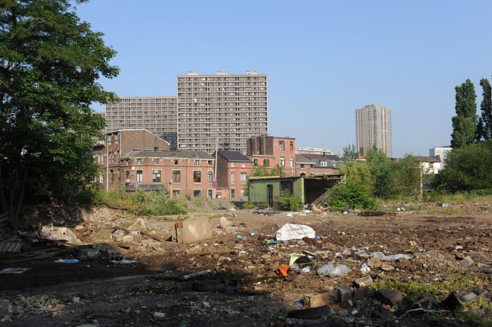
[[[467,79],[461,86],[456,86],[456,116],[451,118],[453,133],[451,134],[451,147],[461,148],[472,144],[476,138],[477,125],[477,95],[471,80]]]

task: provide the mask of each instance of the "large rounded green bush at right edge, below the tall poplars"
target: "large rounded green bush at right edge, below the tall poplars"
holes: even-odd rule
[[[492,189],[492,140],[453,149],[433,188],[449,192]]]

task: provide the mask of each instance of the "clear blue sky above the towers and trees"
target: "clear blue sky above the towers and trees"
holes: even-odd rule
[[[269,133],[343,153],[355,109],[392,109],[393,156],[448,146],[455,86],[480,108],[492,75],[492,1],[92,0],[81,20],[105,34],[120,96],[176,95],[188,71],[268,74]],[[95,107],[96,110],[102,110]]]

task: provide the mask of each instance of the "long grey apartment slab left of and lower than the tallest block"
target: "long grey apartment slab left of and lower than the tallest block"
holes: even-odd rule
[[[175,96],[120,96],[106,104],[106,132],[146,129],[177,148],[177,106]]]

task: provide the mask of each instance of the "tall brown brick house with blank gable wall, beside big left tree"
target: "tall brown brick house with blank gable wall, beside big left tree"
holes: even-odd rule
[[[93,147],[93,157],[99,165],[101,187],[118,189],[125,185],[119,159],[134,149],[169,150],[169,143],[145,129],[116,130],[105,134],[105,139]]]

